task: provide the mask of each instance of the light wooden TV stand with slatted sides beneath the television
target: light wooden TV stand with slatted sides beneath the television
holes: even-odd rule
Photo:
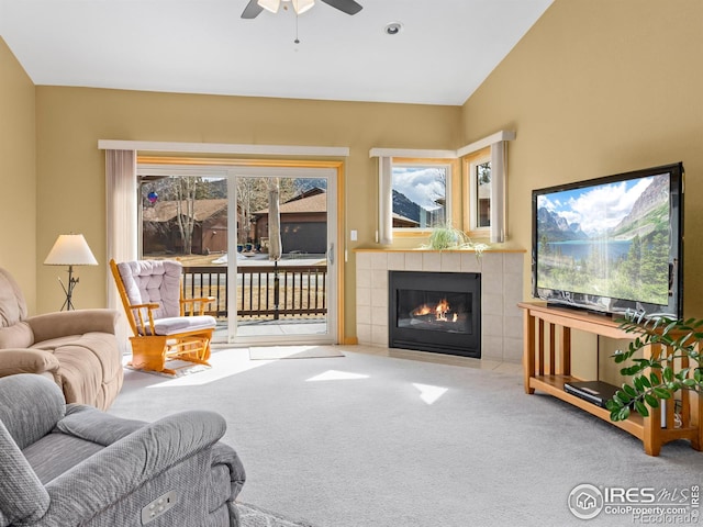
[[[633,412],[626,421],[611,422],[610,411],[563,391],[565,382],[581,380],[571,375],[571,329],[628,340],[634,339],[633,334],[621,329],[620,324],[610,316],[551,307],[542,302],[522,302],[517,305],[524,310],[525,393],[540,390],[612,423],[640,439],[649,456],[658,456],[662,445],[676,439],[688,439],[692,448],[701,450],[703,404],[700,404],[695,392],[685,391],[681,394],[679,426],[674,419],[674,405],[666,405],[665,428],[661,426],[660,408],[650,408],[649,417],[643,418]],[[559,336],[557,327],[561,327]],[[645,352],[661,351],[657,348],[659,346],[650,346]]]

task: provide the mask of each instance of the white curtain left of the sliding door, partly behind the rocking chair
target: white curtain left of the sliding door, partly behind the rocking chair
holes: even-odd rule
[[[137,258],[137,184],[136,152],[105,150],[105,210],[108,225],[107,261],[131,261]],[[108,306],[122,312],[122,303],[108,270]],[[129,352],[126,317],[118,329],[122,351]]]

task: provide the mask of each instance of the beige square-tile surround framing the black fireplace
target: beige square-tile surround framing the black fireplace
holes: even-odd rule
[[[481,359],[523,357],[524,251],[356,249],[356,335],[359,344],[388,346],[388,271],[480,272]]]

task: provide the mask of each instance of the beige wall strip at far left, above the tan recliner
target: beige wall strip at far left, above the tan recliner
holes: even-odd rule
[[[0,267],[36,305],[34,85],[0,37]]]

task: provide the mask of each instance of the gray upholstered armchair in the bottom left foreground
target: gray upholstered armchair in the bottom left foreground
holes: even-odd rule
[[[66,405],[42,375],[0,378],[0,527],[239,525],[245,473],[224,419],[152,424]]]

